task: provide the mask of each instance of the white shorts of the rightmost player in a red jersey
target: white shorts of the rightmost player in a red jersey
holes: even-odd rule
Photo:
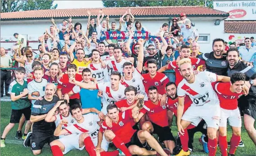
[[[232,127],[242,127],[239,108],[234,110],[220,108],[220,127],[227,127],[227,121]]]

